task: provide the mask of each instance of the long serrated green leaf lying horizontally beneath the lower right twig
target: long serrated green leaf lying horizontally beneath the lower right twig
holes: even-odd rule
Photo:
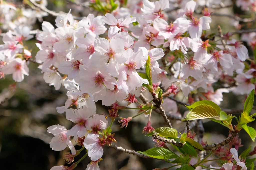
[[[175,153],[172,151],[162,148],[162,147],[157,147],[157,148],[151,148],[146,150],[145,152],[137,151],[139,153],[142,153],[144,155],[150,156],[152,158],[157,158],[157,159],[173,159],[173,158],[179,158]]]

